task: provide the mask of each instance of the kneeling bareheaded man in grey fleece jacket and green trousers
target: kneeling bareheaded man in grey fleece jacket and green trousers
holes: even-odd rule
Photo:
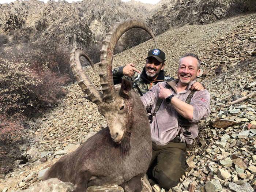
[[[153,154],[147,174],[164,189],[176,186],[185,173],[186,144],[192,144],[198,135],[197,123],[211,112],[207,90],[196,91],[190,104],[185,102],[200,74],[200,63],[195,54],[185,54],[179,62],[178,79],[158,83],[140,97],[153,114],[150,124]],[[165,88],[167,83],[170,89]],[[158,98],[163,102],[154,112]]]

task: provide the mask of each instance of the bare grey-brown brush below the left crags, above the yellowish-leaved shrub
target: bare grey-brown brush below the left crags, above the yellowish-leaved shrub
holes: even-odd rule
[[[61,75],[68,74],[72,79],[72,72],[69,68],[70,50],[65,48],[60,40],[44,39],[37,42],[27,42],[22,45],[13,45],[0,57],[18,62],[26,61],[31,67],[48,67],[50,71]]]

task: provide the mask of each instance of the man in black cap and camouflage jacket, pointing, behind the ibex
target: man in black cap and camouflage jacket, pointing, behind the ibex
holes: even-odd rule
[[[146,65],[142,72],[136,69],[132,63],[113,69],[114,84],[121,83],[122,78],[125,78],[132,83],[132,88],[136,93],[142,96],[155,84],[174,80],[173,77],[164,74],[164,66],[165,53],[160,49],[152,49],[148,52]],[[196,82],[191,89],[202,90],[204,88],[202,84]]]

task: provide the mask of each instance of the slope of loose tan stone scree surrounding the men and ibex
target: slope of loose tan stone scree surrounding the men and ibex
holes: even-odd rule
[[[200,134],[188,149],[187,172],[170,191],[251,192],[256,189],[256,100],[230,105],[256,89],[256,14],[239,15],[205,26],[183,26],[157,37],[166,53],[165,73],[176,76],[178,59],[187,52],[203,60],[199,81],[211,94],[211,114],[200,122]],[[113,67],[134,63],[144,67],[147,41],[113,59]],[[98,66],[95,65],[98,72]],[[99,78],[86,67],[100,89]],[[31,119],[25,130],[29,143],[21,146],[29,163],[16,161],[14,172],[0,179],[0,191],[22,191],[39,183],[45,169],[106,126],[97,106],[87,101],[76,84],[67,97],[44,117]],[[17,138],[19,139],[19,138]],[[49,181],[53,182],[53,181]],[[154,191],[161,191],[152,181]],[[63,185],[63,184],[61,184]],[[68,187],[69,188],[69,187]],[[67,189],[67,191],[70,190]]]

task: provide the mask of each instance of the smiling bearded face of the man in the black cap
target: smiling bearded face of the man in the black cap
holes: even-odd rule
[[[148,57],[145,65],[147,78],[151,80],[157,79],[161,70],[163,70],[164,64],[155,57]]]

